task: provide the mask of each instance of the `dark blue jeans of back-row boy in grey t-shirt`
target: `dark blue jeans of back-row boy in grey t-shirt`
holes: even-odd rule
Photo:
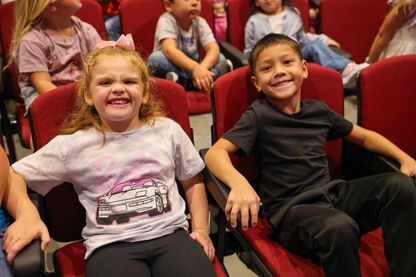
[[[212,67],[212,71],[217,72],[215,70],[219,63],[225,62],[225,57],[223,54],[220,53],[220,58],[218,59],[217,63]],[[163,51],[154,51],[150,54],[149,58],[147,59],[147,64],[151,70],[156,70],[153,73],[156,77],[165,78],[166,73],[168,72],[175,72],[178,74],[179,79],[181,80],[181,85],[185,87],[185,90],[191,90],[193,87],[193,76],[192,72],[180,68],[173,64],[168,58],[166,58]],[[215,75],[214,80],[217,79],[219,76]]]

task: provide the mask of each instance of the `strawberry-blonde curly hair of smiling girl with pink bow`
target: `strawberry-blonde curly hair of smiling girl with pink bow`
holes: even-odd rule
[[[147,65],[140,55],[134,50],[128,50],[121,46],[107,46],[95,49],[84,65],[84,73],[77,87],[76,108],[68,117],[61,130],[62,134],[73,134],[78,130],[95,127],[100,130],[103,135],[102,121],[97,110],[88,105],[85,101],[84,93],[90,88],[92,71],[96,65],[102,62],[108,56],[122,55],[126,60],[137,66],[141,73],[141,81],[143,83],[143,95],[148,95],[147,103],[142,104],[138,117],[146,123],[154,124],[157,117],[164,117],[164,104],[160,98],[155,97],[154,80],[149,76]],[[105,136],[104,136],[105,143]]]

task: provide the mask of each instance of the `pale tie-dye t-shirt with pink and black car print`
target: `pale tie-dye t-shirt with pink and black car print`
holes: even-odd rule
[[[28,187],[45,195],[62,182],[74,185],[86,210],[85,258],[116,241],[144,241],[187,229],[178,180],[204,162],[176,122],[160,118],[125,133],[95,128],[61,135],[12,166]]]

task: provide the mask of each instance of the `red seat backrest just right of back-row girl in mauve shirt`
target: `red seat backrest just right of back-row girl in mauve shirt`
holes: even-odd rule
[[[107,40],[103,8],[96,0],[82,0],[82,8],[75,14],[84,22],[91,24],[103,40]]]

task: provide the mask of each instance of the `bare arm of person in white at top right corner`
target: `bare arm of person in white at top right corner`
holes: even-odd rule
[[[378,61],[381,52],[383,52],[383,50],[386,48],[394,33],[397,31],[400,25],[405,22],[407,19],[407,14],[409,13],[408,6],[403,6],[397,13],[396,12],[396,9],[391,9],[381,24],[381,27],[378,30],[378,34],[370,48],[370,53],[368,55],[370,62]]]

